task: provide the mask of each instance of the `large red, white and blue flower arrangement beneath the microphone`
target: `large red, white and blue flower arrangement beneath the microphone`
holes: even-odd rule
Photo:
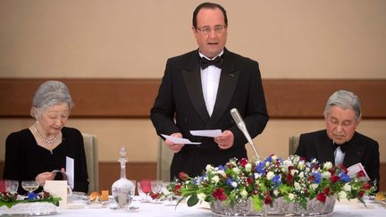
[[[316,198],[324,203],[328,196],[336,196],[338,200],[357,198],[364,203],[363,196],[375,190],[374,185],[361,179],[364,175],[358,172],[350,178],[346,168],[335,167],[330,162],[318,163],[315,159],[306,162],[298,155],[282,160],[271,155],[263,161],[233,158],[218,167],[207,165],[199,177],[180,172],[180,181],[172,184],[172,188],[188,199],[189,206],[202,201],[233,205],[251,199],[253,208],[260,211],[282,197],[306,209],[307,201]]]

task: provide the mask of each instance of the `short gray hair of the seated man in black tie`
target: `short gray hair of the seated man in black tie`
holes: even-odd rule
[[[324,108],[324,118],[327,118],[331,107],[334,105],[340,107],[341,109],[352,109],[356,113],[357,121],[359,121],[362,117],[360,100],[353,92],[338,90],[333,93]]]

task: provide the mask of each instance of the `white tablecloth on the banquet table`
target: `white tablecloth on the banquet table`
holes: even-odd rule
[[[338,217],[376,217],[386,216],[386,207],[380,204],[366,202],[367,208],[361,204],[336,204],[334,212],[329,216]],[[57,216],[75,217],[75,216],[93,216],[93,217],[118,217],[118,216],[218,216],[212,213],[207,206],[188,207],[186,204],[178,206],[166,206],[164,204],[150,204],[134,201],[131,206],[137,206],[138,210],[117,210],[112,209],[115,204],[107,204],[104,207],[92,207],[85,205],[83,208],[57,208]]]

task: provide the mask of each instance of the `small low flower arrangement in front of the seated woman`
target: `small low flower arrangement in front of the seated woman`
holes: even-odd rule
[[[8,208],[11,208],[14,204],[30,202],[49,202],[58,206],[59,201],[62,200],[60,197],[54,197],[46,191],[40,193],[31,192],[24,200],[18,200],[17,196],[17,193],[0,192],[0,207],[5,205]]]

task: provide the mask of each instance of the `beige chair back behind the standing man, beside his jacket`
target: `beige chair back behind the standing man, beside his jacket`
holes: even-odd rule
[[[157,179],[170,181],[170,166],[172,164],[172,151],[164,143],[164,139],[159,138],[157,156]]]

